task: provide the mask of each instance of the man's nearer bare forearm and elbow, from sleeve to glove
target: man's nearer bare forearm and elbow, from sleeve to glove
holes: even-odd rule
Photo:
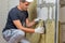
[[[20,29],[20,30],[23,30],[25,32],[29,32],[29,33],[34,33],[35,32],[35,29],[32,28],[25,28],[22,26],[20,19],[17,20],[13,20],[13,24]]]

